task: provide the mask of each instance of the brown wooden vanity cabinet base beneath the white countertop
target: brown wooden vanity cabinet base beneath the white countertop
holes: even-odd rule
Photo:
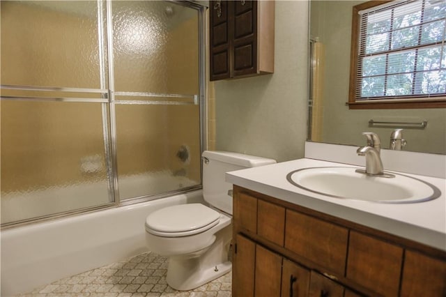
[[[446,296],[446,252],[234,185],[232,296]]]

